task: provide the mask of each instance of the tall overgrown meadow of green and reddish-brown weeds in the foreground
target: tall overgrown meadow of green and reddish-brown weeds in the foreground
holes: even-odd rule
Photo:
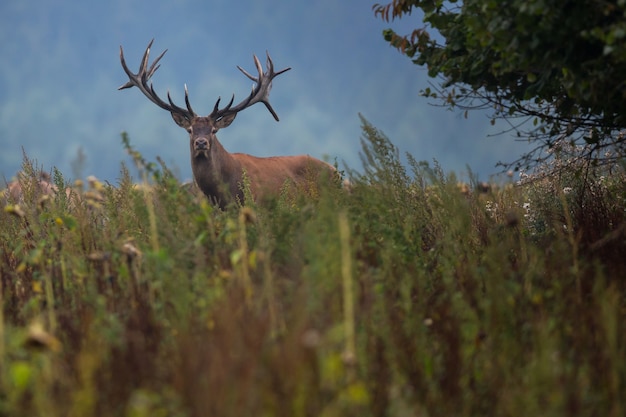
[[[349,190],[222,211],[126,146],[116,184],[53,171],[69,196],[25,157],[0,416],[626,413],[619,159],[459,184],[364,121]]]

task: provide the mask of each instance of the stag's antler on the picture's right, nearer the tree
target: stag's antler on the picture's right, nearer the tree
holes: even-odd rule
[[[263,103],[265,104],[265,107],[267,108],[267,110],[269,110],[269,112],[272,113],[272,116],[274,116],[274,119],[278,121],[278,115],[276,114],[276,112],[272,108],[272,105],[269,102],[270,90],[272,89],[272,80],[275,77],[282,74],[283,72],[289,71],[291,68],[288,67],[278,72],[274,72],[274,63],[272,62],[272,58],[270,57],[269,52],[266,52],[266,54],[267,54],[267,63],[266,63],[267,71],[266,72],[263,72],[263,67],[261,66],[261,62],[259,61],[259,58],[257,58],[256,55],[253,55],[254,64],[257,68],[257,71],[259,72],[258,77],[252,76],[246,70],[244,70],[239,65],[237,65],[237,68],[239,69],[239,71],[243,73],[243,75],[245,75],[246,77],[250,78],[252,81],[255,82],[255,85],[252,86],[252,91],[250,92],[250,95],[246,99],[244,99],[241,103],[233,107],[233,101],[235,100],[235,95],[233,94],[232,98],[230,99],[230,102],[223,109],[219,108],[221,98],[218,98],[217,101],[215,102],[215,107],[213,108],[213,111],[209,115],[210,118],[212,118],[213,120],[219,120],[224,116],[238,113],[252,106],[253,104]]]

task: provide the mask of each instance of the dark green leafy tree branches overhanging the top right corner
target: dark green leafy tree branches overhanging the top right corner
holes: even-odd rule
[[[536,144],[517,167],[562,141],[597,161],[623,155],[626,0],[394,0],[373,9],[385,21],[421,12],[421,27],[387,29],[385,39],[442,80],[423,95],[489,107]]]

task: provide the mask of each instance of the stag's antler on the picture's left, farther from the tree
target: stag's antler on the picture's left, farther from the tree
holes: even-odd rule
[[[154,60],[152,65],[148,67],[148,60],[150,57],[150,47],[152,46],[152,42],[154,42],[154,39],[150,41],[150,43],[148,44],[148,47],[146,48],[146,52],[144,52],[143,54],[143,58],[141,59],[141,64],[139,66],[139,72],[137,74],[133,74],[128,69],[128,66],[126,65],[126,61],[124,60],[124,50],[122,49],[122,46],[120,45],[120,61],[122,62],[122,68],[124,68],[124,72],[126,72],[126,75],[128,75],[129,81],[126,84],[119,87],[118,90],[123,90],[125,88],[131,88],[131,87],[137,87],[139,88],[139,90],[141,90],[141,92],[146,97],[148,97],[148,99],[151,102],[153,102],[157,106],[171,113],[178,113],[181,116],[185,117],[187,120],[192,120],[194,117],[196,117],[196,113],[192,110],[191,104],[189,104],[189,93],[187,91],[187,85],[185,85],[185,104],[187,105],[186,109],[183,109],[182,107],[178,107],[176,104],[174,104],[174,102],[172,101],[172,98],[170,97],[169,91],[167,92],[167,100],[169,101],[169,104],[168,104],[165,101],[161,100],[161,98],[159,98],[157,93],[154,91],[154,87],[152,86],[152,83],[148,85],[148,81],[150,80],[150,77],[152,77],[154,73],[156,72],[156,70],[158,70],[160,67],[160,65],[157,65],[158,62],[161,60],[161,58],[163,58],[163,55],[165,55],[165,53],[167,52],[167,49],[163,51],[161,55],[159,55],[157,59]]]

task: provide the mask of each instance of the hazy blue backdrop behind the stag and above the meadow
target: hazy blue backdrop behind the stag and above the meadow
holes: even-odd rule
[[[183,103],[189,88],[196,112],[208,114],[218,96],[235,100],[251,82],[252,54],[269,50],[276,67],[293,69],[274,81],[276,123],[264,106],[242,112],[218,134],[230,152],[258,156],[310,154],[360,166],[363,114],[401,153],[437,159],[459,174],[466,164],[482,178],[499,160],[523,149],[496,133],[484,115],[434,107],[419,97],[429,81],[383,40],[390,24],[363,0],[138,1],[4,0],[0,4],[0,178],[20,168],[22,148],[66,177],[96,175],[115,182],[128,161],[120,132],[150,160],[160,155],[182,180],[191,178],[187,133],[127,81],[124,46],[133,71],[150,41],[153,56],[168,53],[153,77],[162,97]],[[420,26],[418,16],[392,23]],[[86,156],[82,172],[72,161]]]

